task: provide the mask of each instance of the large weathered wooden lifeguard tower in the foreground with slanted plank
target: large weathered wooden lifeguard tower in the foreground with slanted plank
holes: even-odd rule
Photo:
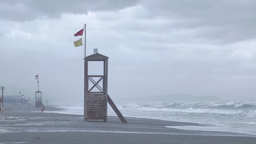
[[[97,53],[95,49],[94,54],[84,60],[84,120],[103,119],[103,122],[107,122],[109,103],[121,121],[127,123],[108,95],[108,57]],[[88,63],[91,61],[103,62],[102,75],[88,75]]]

